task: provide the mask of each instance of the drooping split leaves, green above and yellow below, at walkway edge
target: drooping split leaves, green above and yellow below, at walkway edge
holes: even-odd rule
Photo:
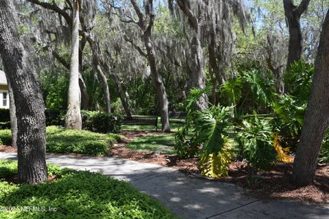
[[[232,126],[229,107],[212,106],[195,114],[195,140],[202,145],[199,168],[207,177],[227,177],[232,158],[228,129]]]

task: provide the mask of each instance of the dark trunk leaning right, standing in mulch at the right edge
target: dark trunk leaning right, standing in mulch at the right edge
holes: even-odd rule
[[[329,125],[329,10],[322,26],[310,100],[293,164],[297,186],[313,182],[324,132]]]

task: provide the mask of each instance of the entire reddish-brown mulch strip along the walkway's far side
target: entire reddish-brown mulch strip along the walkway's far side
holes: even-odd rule
[[[176,155],[153,153],[149,151],[132,151],[125,147],[135,138],[154,135],[155,131],[122,131],[123,142],[112,146],[112,157],[131,159],[137,162],[169,166],[181,170],[189,177],[201,177],[197,168],[198,158],[179,159]],[[11,146],[0,146],[1,152],[16,152]],[[256,171],[246,162],[233,162],[230,165],[229,177],[209,179],[226,181],[247,188],[247,193],[258,198],[290,198],[308,203],[329,203],[329,165],[318,166],[313,185],[296,188],[291,181],[293,164],[277,163],[269,171]],[[203,177],[206,179],[206,177]],[[208,179],[208,178],[207,178]]]

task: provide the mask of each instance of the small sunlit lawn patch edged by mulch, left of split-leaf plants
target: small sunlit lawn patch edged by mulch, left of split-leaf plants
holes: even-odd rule
[[[155,153],[175,154],[175,134],[156,134],[138,137],[126,144],[126,147],[134,151],[147,150]]]

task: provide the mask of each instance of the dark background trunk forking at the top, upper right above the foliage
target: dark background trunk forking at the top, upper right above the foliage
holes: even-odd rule
[[[308,7],[310,0],[303,0],[297,7],[292,0],[283,0],[284,14],[289,26],[289,51],[287,68],[302,57],[302,30],[300,29],[300,16]]]

